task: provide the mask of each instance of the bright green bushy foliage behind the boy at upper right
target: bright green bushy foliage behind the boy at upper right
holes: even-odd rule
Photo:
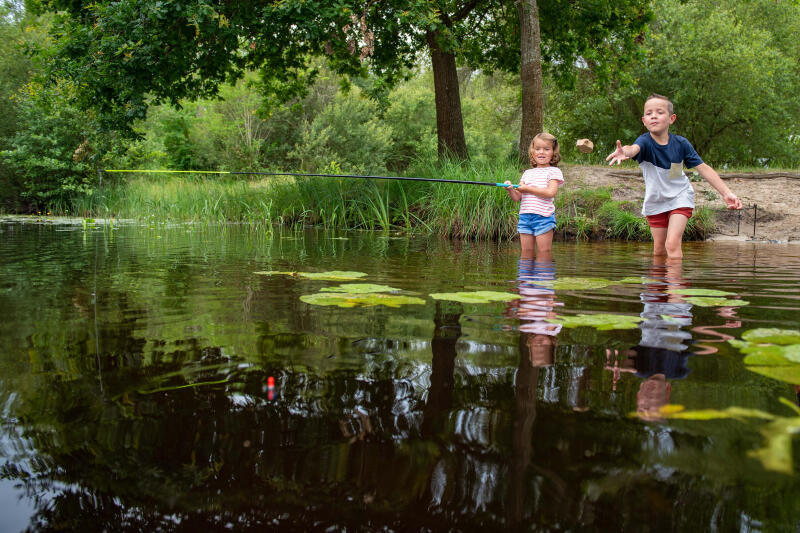
[[[654,12],[644,57],[616,73],[618,82],[604,88],[588,68],[574,91],[548,92],[562,142],[592,139],[599,162],[617,139],[645,131],[644,98],[657,92],[675,104],[671,131],[712,165],[797,166],[800,50],[787,35],[796,34],[800,5],[659,0]]]

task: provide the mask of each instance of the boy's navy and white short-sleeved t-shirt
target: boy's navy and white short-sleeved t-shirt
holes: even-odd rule
[[[636,161],[644,176],[642,214],[657,215],[679,207],[694,209],[694,189],[685,168],[703,164],[692,144],[680,135],[669,134],[667,144],[658,144],[650,133],[640,135]]]

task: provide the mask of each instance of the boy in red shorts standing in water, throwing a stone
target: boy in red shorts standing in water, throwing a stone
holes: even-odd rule
[[[642,169],[645,183],[642,214],[647,217],[653,235],[653,255],[680,259],[683,230],[694,209],[694,190],[686,168],[695,168],[722,195],[728,209],[741,209],[742,201],[722,182],[716,171],[703,163],[688,140],[670,135],[669,126],[675,122],[672,102],[666,96],[651,94],[644,103],[642,122],[647,133],[632,145],[617,141],[606,161],[619,164],[635,158]]]

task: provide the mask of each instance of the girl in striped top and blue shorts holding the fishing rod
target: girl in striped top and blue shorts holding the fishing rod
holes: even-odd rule
[[[561,161],[558,141],[549,133],[540,133],[531,141],[528,157],[533,168],[522,174],[519,187],[506,181],[506,192],[515,202],[520,202],[519,241],[522,257],[549,261],[553,244],[553,231],[556,227],[553,198],[558,186],[564,183],[564,175],[556,167]]]

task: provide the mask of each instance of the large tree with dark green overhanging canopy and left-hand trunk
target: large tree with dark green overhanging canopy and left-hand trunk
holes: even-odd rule
[[[324,54],[340,74],[371,72],[374,94],[405,76],[425,51],[434,73],[439,154],[463,158],[457,62],[488,71],[520,68],[512,0],[366,5],[45,0],[43,5],[63,10],[54,32],[53,73],[83,87],[80,104],[99,109],[105,127],[129,133],[148,105],[216,95],[222,83],[248,69],[278,80],[284,96],[291,96],[313,79],[310,58]],[[564,80],[571,79],[576,62],[591,64],[603,76],[646,23],[646,5],[644,0],[540,4],[543,61]]]

